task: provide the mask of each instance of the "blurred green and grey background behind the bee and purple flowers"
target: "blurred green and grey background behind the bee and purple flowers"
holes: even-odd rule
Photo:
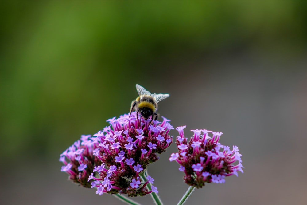
[[[174,127],[223,132],[221,143],[243,155],[244,174],[196,190],[187,204],[306,204],[306,8],[2,1],[1,204],[123,204],[72,184],[58,158],[129,112],[136,83],[170,94],[159,113]],[[149,167],[165,204],[188,188],[172,152],[175,144]]]

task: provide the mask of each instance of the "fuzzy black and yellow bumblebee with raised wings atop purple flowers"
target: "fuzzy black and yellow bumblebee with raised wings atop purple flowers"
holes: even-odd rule
[[[157,120],[158,118],[158,114],[156,113],[158,109],[157,103],[169,97],[169,94],[156,94],[156,93],[151,94],[141,85],[136,84],[135,87],[136,90],[138,91],[139,96],[131,103],[131,110],[129,117],[133,109],[135,109],[137,117],[138,113],[140,112],[141,116],[145,120],[147,120],[149,116],[152,116],[151,120],[153,120],[153,116],[155,116],[154,120]]]

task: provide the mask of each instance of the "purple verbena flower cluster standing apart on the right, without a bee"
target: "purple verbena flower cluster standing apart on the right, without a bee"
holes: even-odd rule
[[[194,136],[188,142],[183,132],[185,127],[176,128],[179,132],[176,140],[179,152],[173,153],[169,158],[170,161],[177,161],[180,164],[179,170],[185,173],[185,183],[201,188],[205,182],[225,183],[225,176],[238,176],[238,171],[243,173],[242,155],[238,147],[233,146],[230,150],[228,146],[218,142],[223,133],[191,130]],[[238,163],[234,165],[235,162]]]

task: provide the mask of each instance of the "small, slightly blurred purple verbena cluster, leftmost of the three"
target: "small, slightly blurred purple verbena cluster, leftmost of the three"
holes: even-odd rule
[[[88,177],[99,159],[93,155],[98,143],[94,143],[91,135],[82,135],[80,140],[66,149],[60,155],[60,161],[64,163],[61,171],[69,174],[69,179],[83,187],[91,187]]]

